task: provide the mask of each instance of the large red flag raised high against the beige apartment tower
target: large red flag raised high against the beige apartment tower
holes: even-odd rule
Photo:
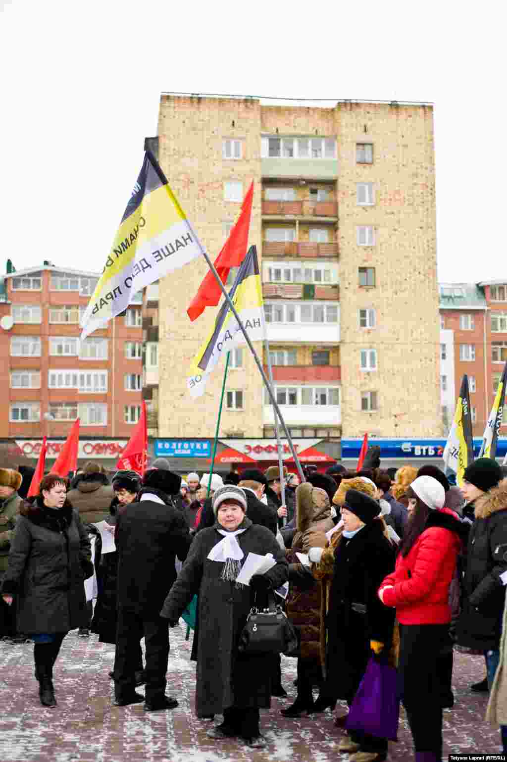
[[[249,242],[252,199],[253,180],[245,198],[243,199],[238,219],[231,232],[229,232],[229,238],[224,243],[220,254],[214,262],[222,283],[226,282],[230,268],[239,267],[245,259],[246,247]],[[202,315],[206,307],[216,307],[220,301],[220,296],[222,296],[222,291],[220,290],[220,286],[218,285],[217,280],[215,280],[213,273],[210,271],[204,276],[204,280],[201,283],[199,290],[187,309],[188,317],[191,320],[195,320],[199,315]]]

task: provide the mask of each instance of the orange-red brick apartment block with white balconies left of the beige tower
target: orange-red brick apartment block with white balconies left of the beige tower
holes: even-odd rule
[[[82,456],[117,457],[140,416],[142,294],[107,328],[80,341],[79,319],[98,274],[49,262],[8,269],[0,288],[0,439],[58,440],[79,417],[82,439],[91,442]],[[99,439],[104,446],[94,447]],[[55,445],[50,456],[57,451]]]

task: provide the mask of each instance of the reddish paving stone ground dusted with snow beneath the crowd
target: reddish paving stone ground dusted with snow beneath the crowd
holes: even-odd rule
[[[274,699],[262,712],[262,732],[268,748],[252,750],[237,740],[212,741],[209,721],[194,715],[195,664],[185,626],[170,630],[171,655],[168,695],[179,706],[169,712],[146,714],[143,705],[111,705],[112,681],[107,677],[114,646],[97,636],[82,639],[70,632],[56,662],[58,706],[44,709],[34,679],[33,645],[0,642],[0,760],[1,762],[345,762],[338,744],[341,732],[334,714],[288,720],[280,709],[294,700],[296,660],[283,658],[283,682],[290,696]],[[482,679],[480,656],[456,653],[453,686],[456,704],[444,712],[444,760],[448,754],[496,754],[499,731],[484,722],[487,696],[470,692]],[[143,689],[140,689],[143,690]],[[401,712],[399,742],[390,744],[390,760],[411,762],[412,739]]]

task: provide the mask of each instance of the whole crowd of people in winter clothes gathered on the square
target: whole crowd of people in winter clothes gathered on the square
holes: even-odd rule
[[[178,706],[165,693],[169,629],[194,606],[197,716],[223,717],[210,738],[263,748],[259,710],[287,696],[281,657],[241,644],[252,609],[275,600],[299,638],[287,722],[339,701],[357,715],[370,665],[388,665],[416,762],[440,762],[457,647],[484,655],[471,690],[489,691],[487,718],[507,751],[507,479],[495,460],[474,461],[460,488],[435,466],[383,470],[376,448],[358,471],[338,464],[303,483],[274,466],[181,479],[156,459],[142,478],[109,479],[95,463],[72,483],[49,474],[36,498],[22,484],[0,469],[0,635],[5,647],[34,642],[43,706],[56,706],[53,667],[72,629],[114,644],[115,706]],[[249,553],[272,565],[240,584]],[[386,760],[387,730],[349,719],[335,717],[339,751]]]

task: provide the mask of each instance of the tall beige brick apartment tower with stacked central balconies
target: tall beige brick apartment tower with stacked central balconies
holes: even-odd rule
[[[427,104],[265,105],[162,94],[159,161],[214,258],[254,181],[278,404],[294,437],[435,436],[435,156]],[[159,283],[159,436],[212,437],[222,373],[201,399],[191,358],[216,310],[186,309],[206,273]],[[267,362],[266,348],[257,351]],[[249,351],[233,353],[220,435],[274,434]]]

